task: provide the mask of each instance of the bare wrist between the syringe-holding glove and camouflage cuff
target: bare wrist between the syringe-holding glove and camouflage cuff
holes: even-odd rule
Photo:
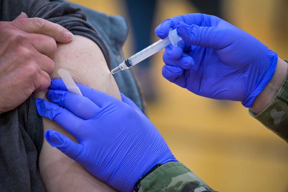
[[[255,101],[253,102],[253,106],[250,108],[254,113],[259,114],[270,104],[281,88],[286,78],[287,71],[287,63],[278,57],[273,77],[256,97]]]

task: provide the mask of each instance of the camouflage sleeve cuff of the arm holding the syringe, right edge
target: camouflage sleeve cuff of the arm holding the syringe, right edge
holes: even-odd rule
[[[258,115],[250,109],[249,114],[288,142],[288,74],[271,103]]]

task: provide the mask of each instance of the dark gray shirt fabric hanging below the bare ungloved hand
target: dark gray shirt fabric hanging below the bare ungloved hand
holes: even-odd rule
[[[45,191],[37,167],[42,143],[34,95],[0,114],[0,191]]]

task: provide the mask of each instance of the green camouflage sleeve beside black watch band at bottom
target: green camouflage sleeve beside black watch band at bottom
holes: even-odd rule
[[[161,165],[141,181],[139,192],[217,192],[180,162]]]

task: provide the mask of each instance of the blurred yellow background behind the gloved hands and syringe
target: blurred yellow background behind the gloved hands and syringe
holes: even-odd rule
[[[123,15],[130,22],[123,0],[70,1]],[[222,1],[225,20],[259,39],[282,59],[288,59],[287,10],[286,0]],[[154,29],[166,18],[194,12],[197,8],[188,1],[159,0]],[[158,40],[153,37],[151,43]],[[135,53],[133,38],[130,31],[125,57]],[[148,103],[148,112],[175,157],[220,192],[287,192],[288,144],[251,117],[240,102],[206,99],[165,80],[162,52],[152,56],[158,97]]]

